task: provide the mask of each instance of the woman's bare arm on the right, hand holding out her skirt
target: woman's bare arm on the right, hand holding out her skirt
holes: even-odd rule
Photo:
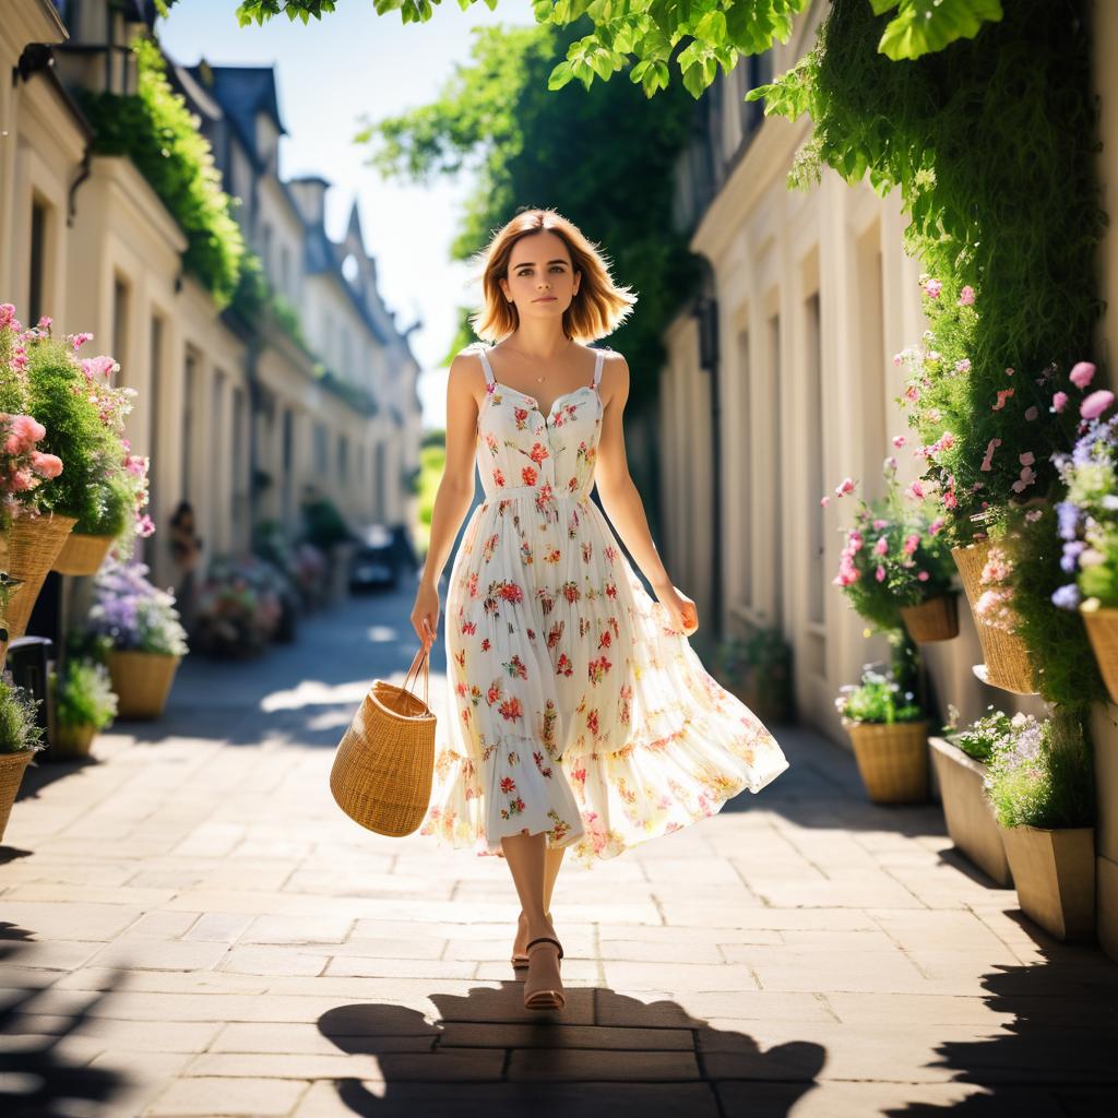
[[[699,627],[694,601],[672,585],[648,530],[648,518],[641,493],[628,472],[622,417],[628,399],[629,370],[620,353],[606,361],[600,387],[606,406],[594,480],[601,498],[601,506],[629,555],[652,584],[657,599],[671,610],[676,625],[690,636]]]

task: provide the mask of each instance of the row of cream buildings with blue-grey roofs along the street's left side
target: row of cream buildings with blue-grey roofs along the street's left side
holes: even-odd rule
[[[149,454],[143,556],[173,579],[168,520],[196,512],[208,557],[249,547],[254,525],[299,529],[313,485],[354,528],[414,519],[418,364],[377,291],[357,208],[324,228],[325,180],[284,182],[285,130],[271,67],[187,68],[168,77],[210,141],[246,246],[263,262],[292,330],[254,331],[219,311],[186,271],[187,238],[135,164],[94,154],[79,88],[135,91],[127,44],[154,18],[144,0],[10,0],[0,20],[0,299],[56,334],[89,330],[139,391],[133,449]],[[414,329],[414,328],[413,328]]]

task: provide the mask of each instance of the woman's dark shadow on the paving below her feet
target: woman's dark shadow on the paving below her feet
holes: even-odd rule
[[[617,1118],[622,1108],[641,1118],[713,1118],[728,1112],[719,1081],[747,1079],[746,1098],[757,1105],[749,1114],[775,1118],[812,1090],[825,1062],[819,1044],[761,1052],[752,1038],[714,1029],[670,1001],[572,987],[556,1015],[524,1010],[522,988],[432,994],[437,1024],[400,1005],[328,1011],[319,1018],[323,1036],[343,1053],[376,1058],[369,1080],[329,1086],[352,1114],[371,1118],[483,1110],[491,1118]]]

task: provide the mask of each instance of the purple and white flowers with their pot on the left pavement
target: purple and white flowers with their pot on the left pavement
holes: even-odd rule
[[[146,565],[110,556],[94,581],[86,619],[105,648],[121,718],[159,718],[187,652],[174,595],[146,576]]]

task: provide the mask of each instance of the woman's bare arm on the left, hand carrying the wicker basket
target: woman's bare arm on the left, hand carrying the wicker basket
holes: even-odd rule
[[[438,632],[438,580],[474,500],[476,392],[482,379],[481,360],[475,354],[459,353],[451,362],[446,380],[446,466],[435,494],[430,543],[411,610],[411,625],[427,648]]]

